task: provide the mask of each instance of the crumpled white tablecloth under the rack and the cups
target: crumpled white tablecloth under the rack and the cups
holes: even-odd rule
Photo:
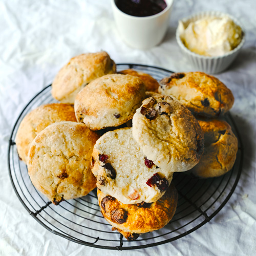
[[[19,202],[7,165],[10,132],[28,101],[50,84],[73,56],[107,51],[116,63],[130,62],[191,71],[175,39],[178,19],[217,10],[236,16],[246,43],[231,67],[216,75],[233,92],[231,110],[244,144],[241,179],[219,214],[172,243],[135,251],[76,244],[49,232]],[[110,1],[0,1],[0,254],[1,255],[255,255],[256,252],[256,2],[175,1],[161,45],[147,51],[127,47],[116,31]]]

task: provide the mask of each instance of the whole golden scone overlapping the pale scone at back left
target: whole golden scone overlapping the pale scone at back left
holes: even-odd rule
[[[133,118],[145,98],[141,79],[131,75],[105,75],[90,82],[76,96],[75,114],[91,130],[118,126]]]

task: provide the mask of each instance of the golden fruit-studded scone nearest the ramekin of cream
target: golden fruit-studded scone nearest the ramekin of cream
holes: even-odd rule
[[[232,108],[232,92],[218,78],[202,72],[174,73],[160,82],[159,93],[170,95],[196,115],[214,118]]]

